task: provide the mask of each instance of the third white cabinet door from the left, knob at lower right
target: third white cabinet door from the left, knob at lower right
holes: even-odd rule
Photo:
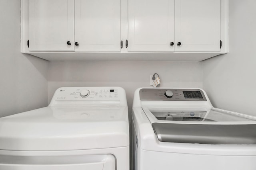
[[[174,51],[174,0],[128,1],[128,51]]]

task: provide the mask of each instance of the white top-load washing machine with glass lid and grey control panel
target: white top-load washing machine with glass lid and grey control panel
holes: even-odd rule
[[[214,108],[199,88],[140,88],[132,170],[256,170],[256,117]]]

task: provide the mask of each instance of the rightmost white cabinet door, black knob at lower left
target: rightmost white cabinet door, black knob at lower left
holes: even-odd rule
[[[175,0],[175,51],[220,51],[220,0]]]

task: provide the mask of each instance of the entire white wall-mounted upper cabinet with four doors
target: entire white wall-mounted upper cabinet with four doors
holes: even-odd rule
[[[21,52],[49,61],[228,53],[228,0],[21,0]]]

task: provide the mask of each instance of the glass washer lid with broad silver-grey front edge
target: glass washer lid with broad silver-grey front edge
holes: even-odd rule
[[[216,108],[142,107],[158,141],[256,144],[256,117]]]

